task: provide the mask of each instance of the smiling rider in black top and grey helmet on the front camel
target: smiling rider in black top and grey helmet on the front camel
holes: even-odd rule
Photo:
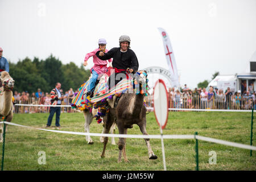
[[[112,66],[115,69],[114,76],[117,78],[118,73],[136,73],[139,68],[137,56],[130,49],[131,39],[127,35],[122,35],[119,38],[119,46],[110,49],[107,53],[98,51],[96,56],[101,60],[108,60],[113,58]],[[111,75],[110,77],[112,77]],[[109,79],[111,80],[111,79]],[[115,85],[122,80],[121,78],[115,79]],[[112,84],[111,84],[112,85]],[[109,81],[110,88],[110,81]]]

